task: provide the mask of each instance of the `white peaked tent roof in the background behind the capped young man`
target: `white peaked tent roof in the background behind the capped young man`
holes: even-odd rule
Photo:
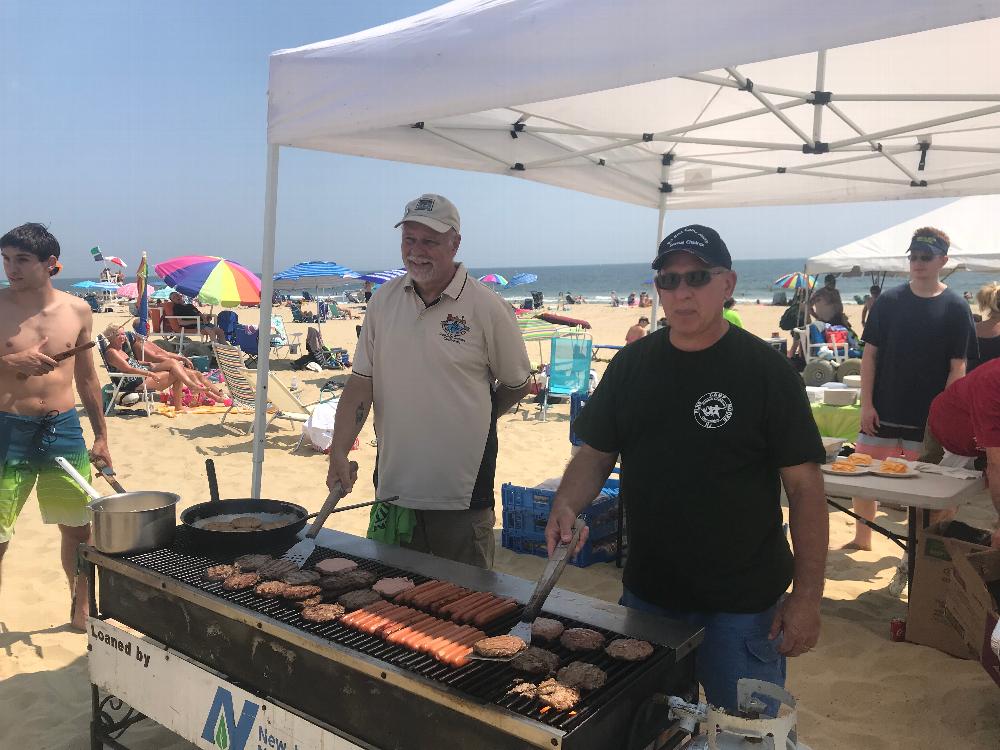
[[[920,227],[937,227],[951,238],[951,271],[1000,272],[1000,196],[962,198],[915,219],[883,229],[849,245],[806,261],[808,273],[858,274],[869,271],[905,274],[906,250]]]

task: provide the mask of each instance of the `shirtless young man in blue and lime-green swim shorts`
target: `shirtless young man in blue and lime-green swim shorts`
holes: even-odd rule
[[[52,286],[59,243],[41,224],[24,224],[0,237],[0,253],[10,281],[10,288],[0,290],[0,562],[37,481],[42,520],[62,532],[62,566],[72,587],[77,547],[90,538],[89,498],[53,458],[64,456],[90,477],[74,379],[94,431],[91,452],[109,465],[111,456],[93,356],[53,356],[90,341],[93,318],[86,302]],[[75,594],[71,624],[83,629],[83,576]]]

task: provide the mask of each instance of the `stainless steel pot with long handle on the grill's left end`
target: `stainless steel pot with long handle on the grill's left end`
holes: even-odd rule
[[[173,541],[179,495],[149,490],[102,496],[66,459],[58,457],[56,463],[93,498],[87,507],[98,551],[134,554],[166,547]]]

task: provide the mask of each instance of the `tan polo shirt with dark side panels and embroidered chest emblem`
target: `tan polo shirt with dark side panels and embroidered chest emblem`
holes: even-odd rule
[[[420,510],[492,500],[496,430],[492,386],[531,374],[514,311],[458,264],[425,306],[409,274],[368,303],[354,374],[372,379],[378,497]]]

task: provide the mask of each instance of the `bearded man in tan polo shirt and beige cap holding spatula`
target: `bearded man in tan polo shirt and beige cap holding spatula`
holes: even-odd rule
[[[422,195],[396,226],[407,273],[369,302],[327,484],[353,488],[348,451],[374,406],[376,495],[413,510],[400,544],[489,568],[496,418],[527,392],[528,354],[510,305],[455,262],[462,236],[451,201]]]

